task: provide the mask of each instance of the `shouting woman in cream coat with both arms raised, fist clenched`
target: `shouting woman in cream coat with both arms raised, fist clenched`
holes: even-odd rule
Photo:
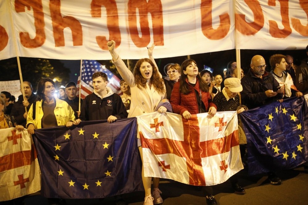
[[[108,41],[107,46],[112,56],[112,62],[115,64],[123,80],[131,88],[131,107],[128,117],[136,117],[144,113],[154,112],[166,93],[162,75],[152,56],[154,44],[148,48],[149,58],[143,58],[137,61],[133,73],[115,52],[115,41]],[[160,106],[157,111],[164,113],[167,111],[167,108]],[[141,159],[143,159],[140,136],[138,135],[137,137],[139,152]],[[153,178],[154,189],[152,193],[151,181],[152,177],[144,177],[144,170],[142,168],[142,182],[145,191],[144,204],[163,203],[163,199],[160,196],[161,192],[158,189],[159,178]]]

